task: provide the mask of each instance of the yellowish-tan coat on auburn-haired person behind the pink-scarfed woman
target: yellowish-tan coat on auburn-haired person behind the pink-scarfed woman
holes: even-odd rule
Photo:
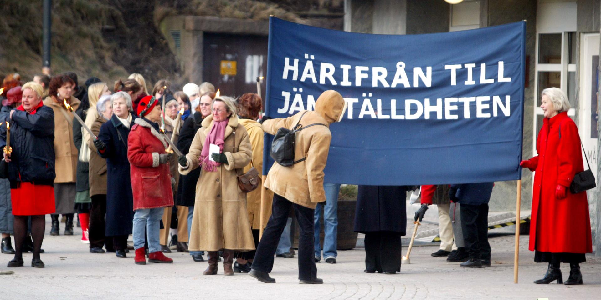
[[[252,164],[244,167],[243,172],[246,173],[251,167],[255,167],[259,173],[263,172],[263,129],[259,122],[251,119],[238,119],[238,122],[246,128],[248,137],[252,145]],[[261,188],[246,194],[246,209],[248,209],[248,221],[251,223],[252,229],[261,229],[267,226],[267,220],[271,216],[271,203],[273,192],[265,190],[265,203],[263,208],[263,224],[261,223]]]

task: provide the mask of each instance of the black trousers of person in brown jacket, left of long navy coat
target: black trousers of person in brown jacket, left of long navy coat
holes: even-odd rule
[[[90,228],[88,229],[90,248],[102,248],[106,244],[107,251],[114,251],[113,239],[105,237],[106,195],[94,195],[91,196],[91,199],[92,208],[90,209]]]

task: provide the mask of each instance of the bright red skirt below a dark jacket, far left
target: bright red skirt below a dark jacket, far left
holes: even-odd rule
[[[10,200],[13,215],[46,215],[56,211],[52,185],[19,182],[18,188],[10,189]]]

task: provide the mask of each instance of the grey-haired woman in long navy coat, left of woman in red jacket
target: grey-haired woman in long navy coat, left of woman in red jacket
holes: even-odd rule
[[[127,160],[127,136],[136,119],[131,113],[132,98],[126,92],[116,92],[110,103],[113,115],[100,127],[94,145],[100,157],[106,158],[106,232],[112,237],[117,257],[126,257],[127,236],[132,234],[133,196]]]

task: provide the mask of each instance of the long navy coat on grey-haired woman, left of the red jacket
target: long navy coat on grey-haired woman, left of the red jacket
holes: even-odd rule
[[[132,122],[136,116],[132,112]],[[127,160],[129,128],[113,115],[100,127],[99,139],[106,149],[99,155],[106,158],[106,236],[130,235],[133,222],[133,194],[130,166]]]

